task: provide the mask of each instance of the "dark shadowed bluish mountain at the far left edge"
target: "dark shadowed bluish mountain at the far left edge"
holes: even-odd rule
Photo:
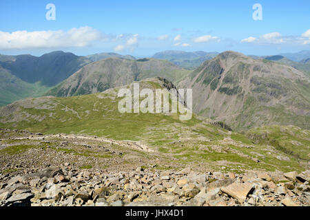
[[[42,96],[90,62],[83,56],[65,52],[39,57],[0,54],[0,106],[22,98]]]

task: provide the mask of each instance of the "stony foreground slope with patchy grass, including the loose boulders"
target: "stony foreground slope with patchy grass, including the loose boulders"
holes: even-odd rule
[[[1,137],[0,206],[310,205],[309,169],[185,164],[141,142],[87,135]]]

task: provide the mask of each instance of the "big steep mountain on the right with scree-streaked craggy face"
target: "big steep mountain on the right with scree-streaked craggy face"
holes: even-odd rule
[[[310,82],[297,69],[224,52],[178,87],[193,88],[194,111],[247,130],[262,124],[310,128]]]

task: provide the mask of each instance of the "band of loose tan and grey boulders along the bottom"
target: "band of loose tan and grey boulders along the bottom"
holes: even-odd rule
[[[309,187],[304,187],[309,186],[309,182],[307,185],[294,182],[296,188],[291,190],[282,184],[274,185],[275,179],[258,178],[260,173],[234,174],[233,177],[231,173],[191,171],[187,174],[186,171],[142,170],[140,167],[132,172],[113,173],[80,170],[63,164],[59,168],[24,170],[25,175],[7,173],[0,175],[0,206],[310,205]],[[67,182],[61,181],[61,173]],[[36,186],[33,179],[39,179]]]

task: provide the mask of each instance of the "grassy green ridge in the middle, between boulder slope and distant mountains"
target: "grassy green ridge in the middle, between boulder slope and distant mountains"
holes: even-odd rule
[[[165,83],[153,78],[141,81],[140,87],[154,91],[165,87]],[[122,88],[132,89],[132,85]],[[307,167],[309,158],[299,159],[274,146],[253,144],[245,135],[222,129],[207,118],[194,115],[192,120],[180,121],[175,113],[119,113],[119,89],[121,87],[86,96],[14,102],[0,109],[0,127],[138,141],[152,150],[139,151],[143,157],[152,153],[169,159],[171,166],[191,164],[234,172]]]

